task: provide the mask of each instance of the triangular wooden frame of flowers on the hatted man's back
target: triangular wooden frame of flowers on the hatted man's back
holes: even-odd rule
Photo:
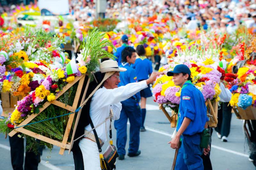
[[[23,126],[24,127],[24,125],[27,125],[37,115],[39,115],[42,111],[44,111],[44,109],[46,109],[50,104],[54,104],[54,105],[59,106],[59,107],[61,107],[63,109],[66,109],[66,110],[68,110],[70,112],[75,112],[75,110],[76,110],[76,108],[78,106],[79,97],[80,97],[81,92],[82,92],[82,87],[83,87],[83,84],[84,84],[84,80],[85,80],[85,75],[76,77],[75,80],[73,82],[71,82],[71,83],[68,83],[61,90],[61,92],[58,94],[58,96],[56,97],[56,99],[59,98],[70,87],[72,87],[77,81],[79,81],[78,87],[77,87],[77,90],[76,90],[76,97],[74,99],[74,102],[73,102],[72,106],[69,106],[67,104],[61,103],[61,102],[59,102],[57,100],[54,100],[54,101],[51,101],[51,102],[46,102],[46,103],[44,103],[43,107],[39,109],[39,113],[31,114],[26,120],[22,121],[19,126]],[[83,97],[82,97],[82,100],[81,100],[80,104],[82,104],[84,102],[85,95],[86,95],[86,92],[87,92],[87,89],[88,89],[88,86],[89,86],[89,82],[90,82],[90,79],[88,79],[88,81],[87,81],[87,84],[86,84],[86,87],[85,87],[85,90],[84,90],[84,93],[83,93]],[[80,109],[77,114],[80,115],[81,111],[82,111],[82,109]],[[70,130],[72,128],[72,124],[73,124],[74,118],[75,118],[75,114],[70,114],[69,119],[68,119],[68,123],[67,123],[67,127],[66,127],[66,130],[65,130],[64,136],[63,136],[63,140],[61,142],[57,141],[57,140],[53,140],[53,139],[48,138],[48,137],[45,137],[45,136],[40,135],[40,134],[36,134],[36,133],[34,133],[32,131],[29,131],[29,130],[23,128],[23,127],[13,129],[9,133],[9,136],[12,137],[16,133],[21,132],[23,134],[32,136],[32,137],[34,137],[36,139],[39,139],[41,141],[44,141],[44,142],[47,142],[47,143],[51,143],[53,145],[56,145],[56,146],[60,147],[59,154],[63,155],[65,149],[67,149],[67,150],[71,149],[71,143],[73,143],[72,140],[71,140],[70,143],[68,143],[68,136],[69,136]],[[77,117],[76,121],[78,121],[77,119],[79,119],[79,118]],[[76,126],[75,126],[75,128],[76,128]],[[73,135],[74,135],[74,133],[75,133],[75,129],[73,130]]]

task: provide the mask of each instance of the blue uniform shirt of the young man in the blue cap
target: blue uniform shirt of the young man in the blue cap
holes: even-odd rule
[[[191,83],[191,81],[186,81],[180,94],[177,131],[180,129],[180,126],[186,117],[190,119],[191,122],[183,134],[194,135],[196,133],[201,133],[204,130],[205,123],[208,121],[206,113],[207,110],[203,94]]]

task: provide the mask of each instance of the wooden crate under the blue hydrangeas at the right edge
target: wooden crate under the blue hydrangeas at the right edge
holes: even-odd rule
[[[253,106],[247,107],[245,110],[241,107],[233,107],[237,119],[256,120],[256,108]]]

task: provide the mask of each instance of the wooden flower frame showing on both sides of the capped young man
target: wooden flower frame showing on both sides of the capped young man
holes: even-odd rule
[[[169,103],[166,103],[166,104],[169,104]],[[218,102],[208,100],[207,102],[205,102],[205,104],[207,106],[207,116],[209,117],[208,125],[212,128],[215,128],[217,127],[217,123],[218,123]],[[176,128],[178,114],[172,110],[172,114],[170,115],[165,110],[165,107],[164,107],[164,104],[159,104],[159,109],[164,112],[165,116],[170,121],[171,128]]]

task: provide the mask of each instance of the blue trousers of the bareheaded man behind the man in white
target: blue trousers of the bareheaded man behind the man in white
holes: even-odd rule
[[[129,153],[136,153],[140,145],[140,125],[141,112],[140,107],[136,106],[134,99],[127,99],[122,103],[120,119],[115,120],[116,128],[116,147],[119,155],[125,155],[125,145],[127,140],[127,120],[130,121],[130,142]]]

